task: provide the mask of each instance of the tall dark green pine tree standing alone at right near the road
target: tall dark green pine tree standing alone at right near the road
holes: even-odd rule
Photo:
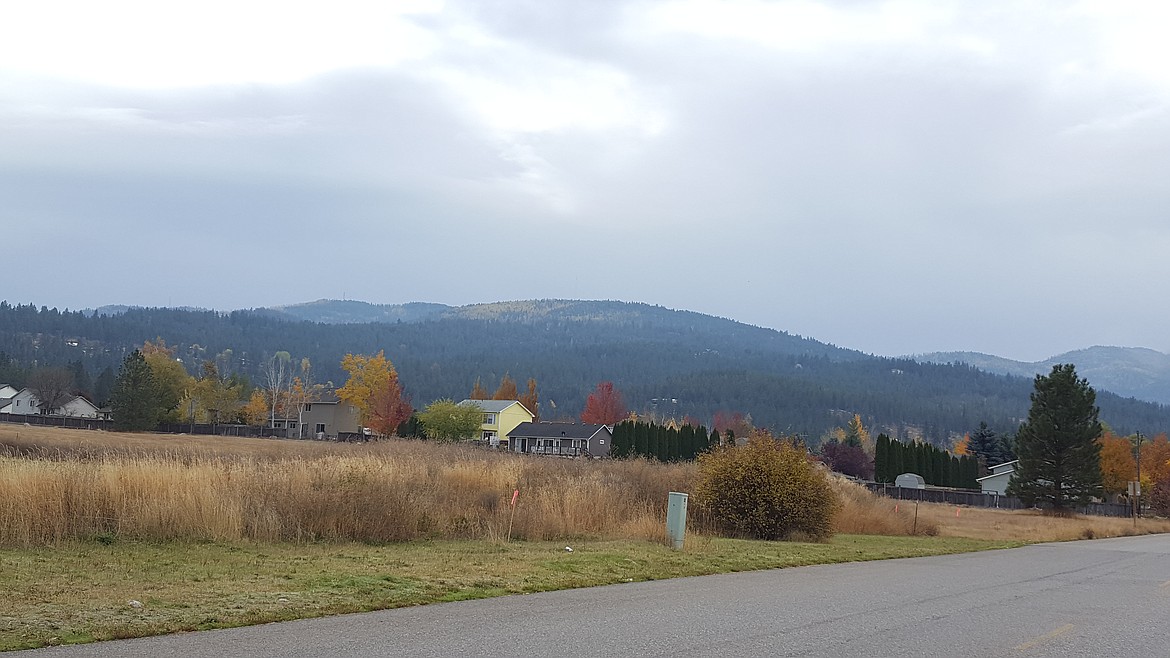
[[[1034,388],[1032,409],[1016,436],[1019,464],[1007,494],[1067,515],[1101,495],[1096,392],[1076,377],[1073,364],[1037,375]]]

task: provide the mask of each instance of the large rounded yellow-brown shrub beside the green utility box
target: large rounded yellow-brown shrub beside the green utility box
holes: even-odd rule
[[[701,454],[695,498],[722,533],[764,540],[825,540],[839,506],[805,451],[768,434]]]

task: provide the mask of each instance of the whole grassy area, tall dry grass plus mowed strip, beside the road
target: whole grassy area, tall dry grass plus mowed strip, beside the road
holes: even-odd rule
[[[876,496],[834,479],[835,537],[665,546],[690,464],[459,445],[0,424],[0,651],[632,581],[1168,532]],[[512,518],[511,493],[519,489]],[[693,508],[695,509],[695,508]],[[697,512],[697,510],[696,510]],[[509,535],[509,525],[511,533]],[[911,536],[917,535],[917,536]],[[573,551],[564,550],[572,546]]]

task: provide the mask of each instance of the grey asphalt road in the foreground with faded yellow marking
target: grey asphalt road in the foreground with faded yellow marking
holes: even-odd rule
[[[1170,656],[1170,536],[629,583],[20,653]]]

